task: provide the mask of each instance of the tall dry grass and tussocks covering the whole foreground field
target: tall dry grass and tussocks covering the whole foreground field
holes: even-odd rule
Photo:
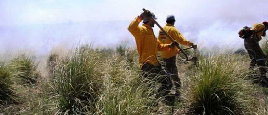
[[[188,53],[193,55],[191,50]],[[182,87],[181,96],[175,102],[174,114],[267,114],[267,103],[263,103],[263,96],[260,96],[264,95],[265,89],[247,78],[251,73],[248,71],[247,56],[230,53],[197,56],[197,64],[185,63],[181,58],[177,60]],[[3,113],[170,114],[170,107],[162,103],[154,106],[157,101],[154,93],[159,84],[141,79],[138,60],[136,49],[94,49],[91,45],[82,45],[66,55],[51,53],[47,58],[50,74],[46,81],[34,78],[33,74],[19,74],[38,70],[33,69],[37,64],[28,56],[17,57],[1,64],[0,72],[3,70],[5,72],[2,73],[8,74],[0,75],[12,77],[7,79],[8,82],[0,83],[10,83],[7,87],[12,87],[12,82],[15,82],[19,88],[15,88],[14,93],[18,92],[27,98],[19,97],[25,105],[12,105],[15,109],[10,108]],[[9,70],[8,67],[13,69]],[[24,87],[23,84],[28,82],[18,79],[27,78],[21,78],[20,75],[36,79],[36,82],[29,80],[36,87]],[[155,87],[148,87],[148,84]],[[26,102],[29,98],[32,98],[31,101]],[[263,99],[266,101],[266,96]]]

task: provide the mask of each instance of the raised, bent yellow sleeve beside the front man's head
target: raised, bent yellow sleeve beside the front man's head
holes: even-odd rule
[[[135,37],[135,39],[139,39],[142,36],[143,29],[139,26],[140,22],[139,17],[136,17],[128,26],[129,32]]]

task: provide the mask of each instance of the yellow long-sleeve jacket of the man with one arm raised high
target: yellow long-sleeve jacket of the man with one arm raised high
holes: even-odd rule
[[[151,26],[143,24],[139,26],[142,20],[136,17],[128,26],[129,32],[135,37],[137,50],[140,55],[140,67],[144,63],[150,63],[158,66],[157,60],[158,51],[166,51],[170,48],[170,44],[162,44],[154,35]]]

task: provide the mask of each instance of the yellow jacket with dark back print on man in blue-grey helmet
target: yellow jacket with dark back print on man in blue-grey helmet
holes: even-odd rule
[[[166,26],[164,26],[163,29],[174,40],[177,40],[178,43],[180,43],[182,45],[187,45],[187,46],[193,45],[193,43],[184,39],[183,35],[172,24],[166,24]],[[159,31],[158,40],[161,41],[161,43],[163,43],[163,44],[171,43],[168,36],[165,33],[163,33],[162,30]],[[161,52],[161,57],[165,58],[165,59],[171,58],[171,57],[176,56],[176,55],[177,55],[177,47],[175,47],[174,49],[168,50],[168,51]]]

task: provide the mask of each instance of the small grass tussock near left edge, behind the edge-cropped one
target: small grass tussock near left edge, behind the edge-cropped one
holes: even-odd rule
[[[37,71],[38,64],[35,64],[29,57],[21,55],[11,61],[11,67],[15,77],[20,78],[27,85],[35,85],[40,78],[40,72]]]

